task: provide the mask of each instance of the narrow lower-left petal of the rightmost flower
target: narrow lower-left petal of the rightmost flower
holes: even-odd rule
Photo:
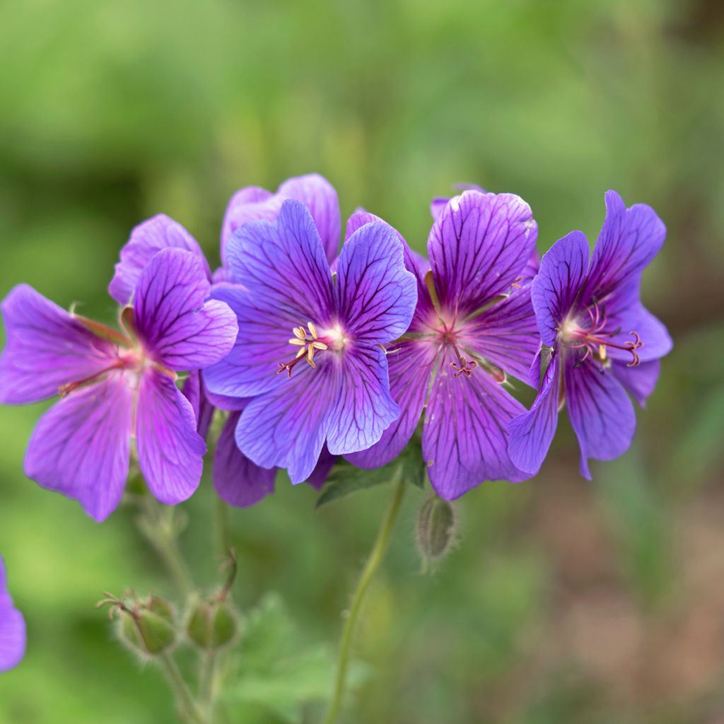
[[[534,475],[545,460],[558,424],[560,364],[555,355],[531,409],[508,423],[508,452],[513,464]]]

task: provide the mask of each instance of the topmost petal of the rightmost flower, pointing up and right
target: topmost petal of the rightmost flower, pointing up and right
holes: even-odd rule
[[[666,227],[645,203],[626,209],[615,191],[606,192],[606,219],[591,259],[584,300],[604,299],[626,279],[638,274],[659,253]]]

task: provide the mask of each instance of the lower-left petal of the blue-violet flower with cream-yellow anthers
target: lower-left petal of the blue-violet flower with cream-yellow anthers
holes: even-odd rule
[[[316,369],[303,363],[291,379],[277,375],[275,382],[245,408],[236,442],[257,465],[287,468],[297,484],[311,475],[327,438],[329,413],[340,397],[339,361],[321,355]]]

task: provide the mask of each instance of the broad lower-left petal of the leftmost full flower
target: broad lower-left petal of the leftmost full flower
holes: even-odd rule
[[[133,392],[122,374],[71,392],[35,426],[25,474],[104,521],[125,488],[132,415]]]

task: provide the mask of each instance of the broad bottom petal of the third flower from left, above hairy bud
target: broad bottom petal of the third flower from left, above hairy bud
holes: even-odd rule
[[[507,426],[523,405],[479,368],[456,378],[449,361],[435,376],[422,433],[432,487],[452,500],[484,480],[529,477],[508,455]]]

